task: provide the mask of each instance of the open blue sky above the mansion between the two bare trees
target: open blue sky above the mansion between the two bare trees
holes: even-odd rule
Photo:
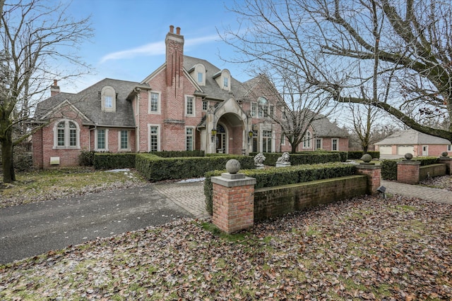
[[[75,18],[91,16],[94,37],[80,55],[93,67],[93,75],[61,81],[61,92],[78,92],[103,78],[141,81],[165,62],[165,36],[169,25],[181,27],[184,54],[228,68],[237,80],[249,79],[243,66],[225,63],[234,56],[217,30],[238,27],[223,0],[74,0]]]

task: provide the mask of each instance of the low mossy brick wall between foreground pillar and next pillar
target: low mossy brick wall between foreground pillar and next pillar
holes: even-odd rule
[[[367,176],[359,175],[258,188],[254,191],[254,221],[366,193]]]

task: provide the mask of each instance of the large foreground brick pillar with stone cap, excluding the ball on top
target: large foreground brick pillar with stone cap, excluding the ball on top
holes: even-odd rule
[[[222,173],[212,177],[213,216],[215,226],[233,233],[254,225],[255,178],[242,173]]]

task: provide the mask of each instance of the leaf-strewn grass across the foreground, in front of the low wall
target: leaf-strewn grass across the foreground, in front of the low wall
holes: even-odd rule
[[[235,235],[182,219],[0,266],[0,300],[451,300],[451,212],[396,196]]]

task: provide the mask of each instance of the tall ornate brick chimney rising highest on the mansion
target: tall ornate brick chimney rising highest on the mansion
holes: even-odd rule
[[[169,26],[169,32],[165,39],[166,44],[166,61],[167,61],[167,87],[182,88],[180,78],[183,76],[184,68],[184,36],[181,35],[181,28]]]

